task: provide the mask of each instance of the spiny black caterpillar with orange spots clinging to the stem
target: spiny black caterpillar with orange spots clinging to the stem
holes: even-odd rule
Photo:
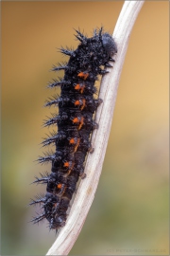
[[[76,39],[80,41],[76,50],[60,48],[60,52],[70,56],[68,64],[54,66],[53,71],[64,70],[64,77],[54,80],[48,87],[60,86],[60,96],[54,96],[46,106],[58,105],[59,115],[47,119],[44,126],[58,125],[58,133],[52,133],[42,141],[43,146],[54,143],[56,152],[44,155],[41,163],[51,161],[51,174],[41,174],[33,183],[46,184],[46,194],[39,195],[30,205],[41,204],[42,214],[32,222],[39,223],[46,218],[49,229],[56,231],[63,227],[73,193],[76,191],[78,177],[85,177],[84,161],[88,152],[93,152],[90,142],[93,129],[93,113],[102,100],[95,100],[94,82],[98,75],[108,73],[102,66],[109,66],[117,47],[109,33],[103,33],[102,27],[95,29],[93,37],[87,38],[76,30]]]

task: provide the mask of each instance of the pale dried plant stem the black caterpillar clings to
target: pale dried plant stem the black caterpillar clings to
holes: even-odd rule
[[[67,255],[69,253],[93,203],[107,149],[117,87],[127,52],[129,35],[143,4],[144,1],[125,1],[119,15],[113,32],[118,53],[114,67],[110,68],[110,73],[102,80],[99,98],[103,99],[104,103],[98,107],[96,113],[95,119],[99,124],[99,129],[93,132],[94,152],[87,158],[85,168],[87,176],[79,184],[65,227],[60,230],[56,242],[46,255]]]

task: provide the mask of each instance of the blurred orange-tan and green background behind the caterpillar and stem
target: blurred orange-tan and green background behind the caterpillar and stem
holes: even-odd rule
[[[112,33],[123,1],[2,2],[2,255],[45,255],[55,241],[29,198],[50,170],[34,160],[48,133],[52,64],[74,29]],[[168,255],[168,1],[144,3],[130,36],[107,154],[93,206],[70,255]],[[58,92],[58,91],[56,91]]]

